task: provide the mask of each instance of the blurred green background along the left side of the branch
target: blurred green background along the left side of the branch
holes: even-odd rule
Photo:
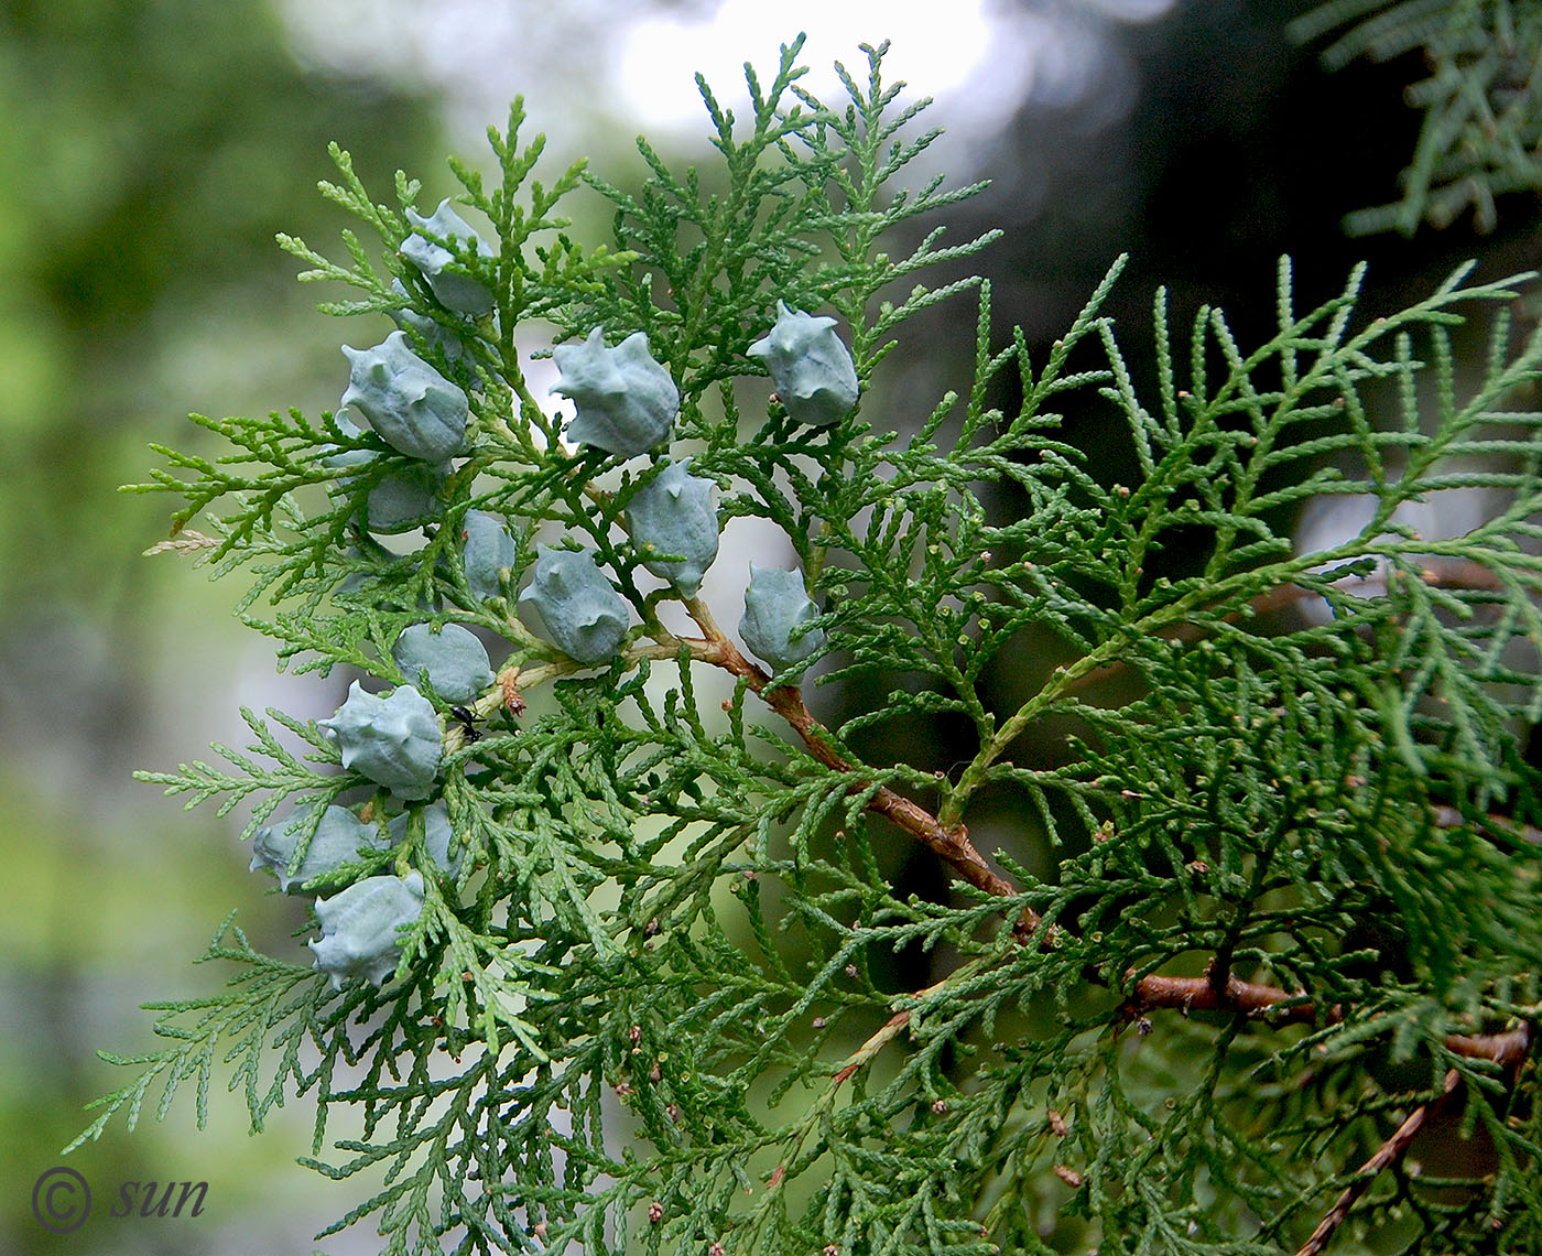
[[[284,699],[230,616],[237,588],[140,557],[168,500],[116,488],[146,478],[150,441],[196,435],[188,410],[327,400],[336,330],[273,233],[336,238],[313,191],[328,139],[389,188],[439,159],[443,127],[421,85],[302,66],[259,0],[0,12],[0,1251],[308,1250],[339,1202],[290,1160],[304,1111],[248,1139],[224,1082],[205,1134],[179,1103],[69,1157],[96,1194],[76,1233],[43,1230],[31,1190],[126,1080],[96,1049],[150,1049],[140,1001],[222,980],[188,960],[231,907],[279,952],[299,923],[256,890],[230,819],[130,778]],[[119,1182],[150,1179],[208,1180],[204,1216],[108,1216]]]

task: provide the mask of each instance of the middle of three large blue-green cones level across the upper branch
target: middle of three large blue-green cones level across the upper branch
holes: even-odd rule
[[[646,335],[632,332],[606,349],[604,329],[595,327],[583,344],[560,344],[552,356],[563,375],[550,390],[578,406],[567,440],[631,457],[669,438],[680,390],[649,355]]]

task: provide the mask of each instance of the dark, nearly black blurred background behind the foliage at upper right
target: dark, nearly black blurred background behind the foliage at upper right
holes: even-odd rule
[[[1309,8],[1189,3],[1160,22],[1113,26],[1116,54],[1109,74],[1129,76],[1106,88],[1110,96],[1129,93],[1118,120],[1089,123],[1084,103],[1047,111],[1027,102],[1012,114],[979,156],[978,173],[992,187],[965,202],[948,227],[951,242],[993,227],[1004,231],[958,268],[959,275],[979,270],[992,281],[996,349],[1016,324],[1027,335],[1032,361],[1044,363],[1121,253],[1129,253],[1129,264],[1103,313],[1113,316],[1136,392],[1146,398],[1156,397],[1150,336],[1158,287],[1167,290],[1180,352],[1204,304],[1224,310],[1246,352],[1277,330],[1281,255],[1292,261],[1298,313],[1338,295],[1352,268],[1368,262],[1360,324],[1428,296],[1470,259],[1477,261],[1474,281],[1537,264],[1542,214],[1530,198],[1502,202],[1500,227],[1486,235],[1463,218],[1443,231],[1422,227],[1412,238],[1346,236],[1346,213],[1397,196],[1420,123],[1403,91],[1426,68],[1409,54],[1326,73],[1317,49],[1300,46],[1288,32],[1291,17]],[[1527,329],[1534,324],[1534,312],[1517,313]],[[911,336],[939,350],[911,373],[936,375],[939,383],[916,389],[913,421],[944,387],[968,378],[975,309],[962,298],[924,319]],[[1021,395],[998,387],[993,400],[1013,414]],[[1104,483],[1135,483],[1138,466],[1123,418],[1090,393],[1082,406],[1067,412],[1059,438],[1082,449]],[[1025,508],[1013,498],[995,505],[1001,520],[1021,517]],[[1291,529],[1291,520],[1280,523]],[[1201,552],[1195,546],[1187,559]],[[1153,560],[1152,574],[1187,574],[1184,559],[1181,548],[1172,548]],[[1047,634],[1021,640],[987,677],[992,705],[1015,710],[1045,673],[1067,660]],[[839,693],[820,693],[816,711],[839,722],[880,704],[888,687],[887,680],[845,684]],[[1019,747],[1019,761],[1044,767],[1062,761],[1067,731],[1075,730],[1045,727],[1039,744]],[[857,745],[874,762],[904,761],[944,773],[975,753],[962,717],[882,725]],[[1539,751],[1542,745],[1534,745],[1533,758],[1542,758]],[[1053,876],[1061,858],[1042,839],[1030,801],[1016,792],[982,790],[971,832],[981,850],[999,846],[1045,876]],[[945,901],[948,895],[941,861],[919,847],[904,852],[894,883],[901,898]],[[936,957],[917,947],[899,958],[890,980],[894,989],[919,989],[936,980]]]

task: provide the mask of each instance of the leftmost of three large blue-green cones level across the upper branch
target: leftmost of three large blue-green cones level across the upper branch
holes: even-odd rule
[[[466,447],[466,393],[412,352],[406,332],[373,349],[342,346],[350,363],[347,406],[409,458],[443,463]]]

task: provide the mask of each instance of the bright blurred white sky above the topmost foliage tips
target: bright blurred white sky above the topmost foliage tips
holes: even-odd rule
[[[768,79],[777,46],[808,31],[805,85],[842,100],[831,62],[864,74],[857,45],[888,39],[885,79],[933,96],[933,125],[988,136],[1019,102],[1110,99],[1110,23],[1147,22],[1175,0],[282,0],[298,56],[438,88],[458,142],[503,122],[515,93],[554,156],[583,151],[592,128],[625,123],[660,139],[702,134],[692,76],[719,99],[745,99],[742,65]],[[1112,120],[1112,119],[1109,119]]]

